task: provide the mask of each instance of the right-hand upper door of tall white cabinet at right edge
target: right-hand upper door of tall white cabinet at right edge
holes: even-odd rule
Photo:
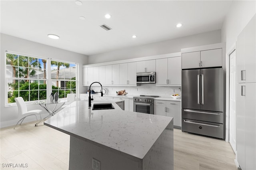
[[[243,32],[245,32],[244,42],[244,58],[245,82],[256,82],[256,16],[247,24]]]

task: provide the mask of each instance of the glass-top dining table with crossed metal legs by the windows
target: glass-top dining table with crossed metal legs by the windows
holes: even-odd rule
[[[54,101],[54,102],[50,102],[48,100],[34,102],[33,104],[40,105],[49,113],[48,116],[41,119],[41,121],[39,121],[37,124],[42,123],[42,122],[46,121],[47,119],[49,119],[50,117],[52,117],[53,115],[55,115],[58,111],[60,111],[62,109],[62,106],[65,104],[65,102],[66,101],[64,99],[60,99],[60,100]],[[35,126],[37,126],[37,124]]]

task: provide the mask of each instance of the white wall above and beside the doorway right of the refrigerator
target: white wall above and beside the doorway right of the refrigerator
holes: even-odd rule
[[[254,1],[234,0],[232,2],[222,27],[222,42],[226,42],[226,53],[231,52],[230,50],[231,48],[233,48],[233,45],[236,43],[238,35],[255,14],[256,14],[255,0]],[[228,70],[227,70],[227,74],[228,74]],[[228,95],[226,96],[226,101],[229,101]],[[228,109],[228,107],[229,106],[227,102],[226,108]],[[228,125],[229,125],[229,112],[227,111],[226,112],[226,141],[228,141],[228,135],[229,135]]]

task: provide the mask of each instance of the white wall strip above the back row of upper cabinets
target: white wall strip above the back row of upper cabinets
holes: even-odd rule
[[[150,43],[136,47],[124,48],[96,55],[89,55],[88,63],[103,63],[122,59],[146,57],[167,53],[180,52],[180,49],[208,45],[221,42],[221,30],[205,32],[192,36],[166,40],[162,42]]]

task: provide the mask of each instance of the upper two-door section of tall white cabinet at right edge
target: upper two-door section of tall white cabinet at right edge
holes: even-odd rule
[[[246,25],[237,38],[236,63],[238,83],[256,82],[256,18]]]

